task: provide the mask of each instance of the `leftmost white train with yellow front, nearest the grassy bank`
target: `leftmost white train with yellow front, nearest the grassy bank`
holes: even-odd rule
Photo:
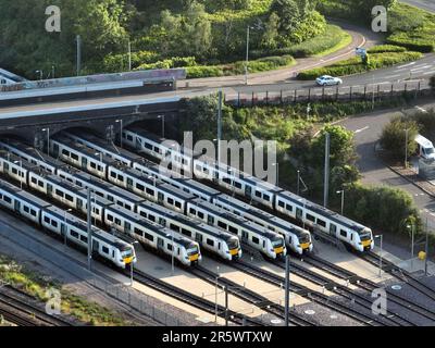
[[[87,224],[84,221],[3,181],[0,181],[0,206],[83,249],[88,246]],[[95,226],[91,250],[121,269],[136,263],[133,245]]]

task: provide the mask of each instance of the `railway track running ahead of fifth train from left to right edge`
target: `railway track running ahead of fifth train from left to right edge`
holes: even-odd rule
[[[304,256],[303,262],[311,264],[311,265],[313,265],[337,278],[344,279],[344,281],[348,282],[349,284],[358,286],[359,288],[361,288],[370,294],[373,290],[380,288],[378,284],[376,284],[370,279],[360,277],[356,273],[345,270],[345,269],[343,269],[330,261],[321,259],[314,254]],[[426,307],[421,306],[421,304],[417,303],[415,301],[411,301],[411,300],[394,293],[393,290],[390,290],[387,287],[385,288],[385,291],[388,295],[388,301],[394,302],[402,308],[406,308],[407,310],[412,311],[413,313],[417,313],[425,319],[435,321],[435,312],[434,311],[431,311]]]

